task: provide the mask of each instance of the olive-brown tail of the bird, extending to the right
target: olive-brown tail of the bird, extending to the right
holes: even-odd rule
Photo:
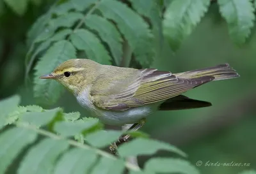
[[[229,64],[220,64],[211,68],[196,69],[184,73],[175,74],[179,78],[198,78],[202,76],[214,76],[214,80],[236,78],[239,74]]]

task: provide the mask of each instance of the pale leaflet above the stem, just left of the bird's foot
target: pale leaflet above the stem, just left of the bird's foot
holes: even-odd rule
[[[88,134],[87,136],[85,136],[84,140],[94,147],[102,148],[118,140],[118,138],[121,135],[122,135],[121,131],[100,130],[100,131]]]

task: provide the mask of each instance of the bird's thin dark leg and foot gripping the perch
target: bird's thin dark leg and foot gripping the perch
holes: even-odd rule
[[[138,129],[140,129],[140,127],[142,127],[145,124],[145,122],[146,122],[146,119],[141,119],[140,122],[132,124],[132,126],[127,131],[131,131],[131,132],[137,131]],[[113,143],[109,147],[111,152],[114,155],[117,155],[117,147],[118,147],[118,145],[121,145],[122,143],[126,142],[130,138],[130,136],[131,135],[129,135],[129,134],[125,134],[123,136],[120,136],[120,138],[118,138],[118,140],[115,141],[115,143]]]

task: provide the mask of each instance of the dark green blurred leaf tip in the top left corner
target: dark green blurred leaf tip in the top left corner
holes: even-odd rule
[[[24,15],[28,7],[28,0],[4,0],[4,2],[20,16]]]

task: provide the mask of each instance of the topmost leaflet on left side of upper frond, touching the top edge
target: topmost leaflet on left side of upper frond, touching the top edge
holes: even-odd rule
[[[84,11],[86,8],[91,6],[92,4],[96,3],[97,0],[71,0],[67,1],[63,4],[60,4],[59,6],[54,9],[54,13],[57,15],[63,15],[67,13],[70,10],[76,9],[77,11]]]

